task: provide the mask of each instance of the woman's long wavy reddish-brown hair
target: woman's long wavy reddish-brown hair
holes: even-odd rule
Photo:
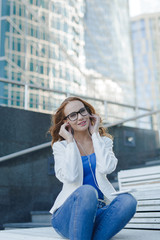
[[[97,114],[94,107],[91,104],[89,104],[88,102],[86,102],[85,100],[83,100],[79,97],[66,98],[62,102],[60,107],[57,109],[56,113],[52,115],[52,125],[49,129],[49,132],[52,136],[52,145],[54,142],[64,140],[64,138],[59,135],[59,131],[60,131],[62,124],[64,123],[64,118],[65,118],[64,108],[71,101],[80,101],[84,104],[84,106],[86,107],[89,114]],[[102,123],[101,118],[100,118],[100,123]],[[91,124],[93,124],[92,119],[91,119]],[[103,126],[99,127],[99,134],[100,134],[100,136],[107,136],[112,139],[112,136],[109,133],[106,133],[106,129]]]

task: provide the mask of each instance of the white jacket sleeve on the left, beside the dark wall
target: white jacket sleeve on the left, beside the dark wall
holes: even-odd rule
[[[74,182],[78,178],[77,150],[74,142],[53,144],[56,177],[62,182]]]

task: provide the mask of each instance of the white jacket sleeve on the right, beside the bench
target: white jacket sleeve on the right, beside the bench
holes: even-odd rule
[[[92,135],[96,154],[97,170],[102,174],[112,173],[117,166],[117,158],[113,153],[113,141],[108,137],[101,137],[99,133]]]

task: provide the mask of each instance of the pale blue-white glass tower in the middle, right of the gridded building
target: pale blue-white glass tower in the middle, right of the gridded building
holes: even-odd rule
[[[108,99],[135,104],[128,0],[101,0],[100,3],[86,1],[86,67],[102,75]]]

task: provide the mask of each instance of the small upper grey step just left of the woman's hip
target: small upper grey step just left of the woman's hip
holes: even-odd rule
[[[50,223],[52,215],[48,211],[32,211],[31,221],[33,223]]]

